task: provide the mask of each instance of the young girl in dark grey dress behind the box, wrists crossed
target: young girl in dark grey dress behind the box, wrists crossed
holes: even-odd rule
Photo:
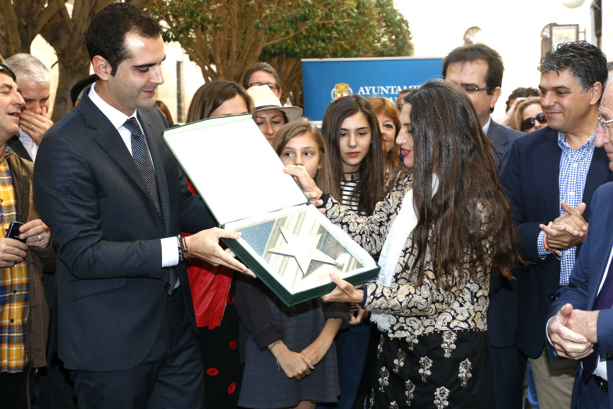
[[[284,164],[302,165],[320,180],[324,140],[306,118],[284,125],[273,140]],[[236,307],[243,326],[245,372],[238,404],[245,408],[314,408],[340,393],[333,340],[345,304],[319,298],[287,307],[261,281],[237,277]]]

